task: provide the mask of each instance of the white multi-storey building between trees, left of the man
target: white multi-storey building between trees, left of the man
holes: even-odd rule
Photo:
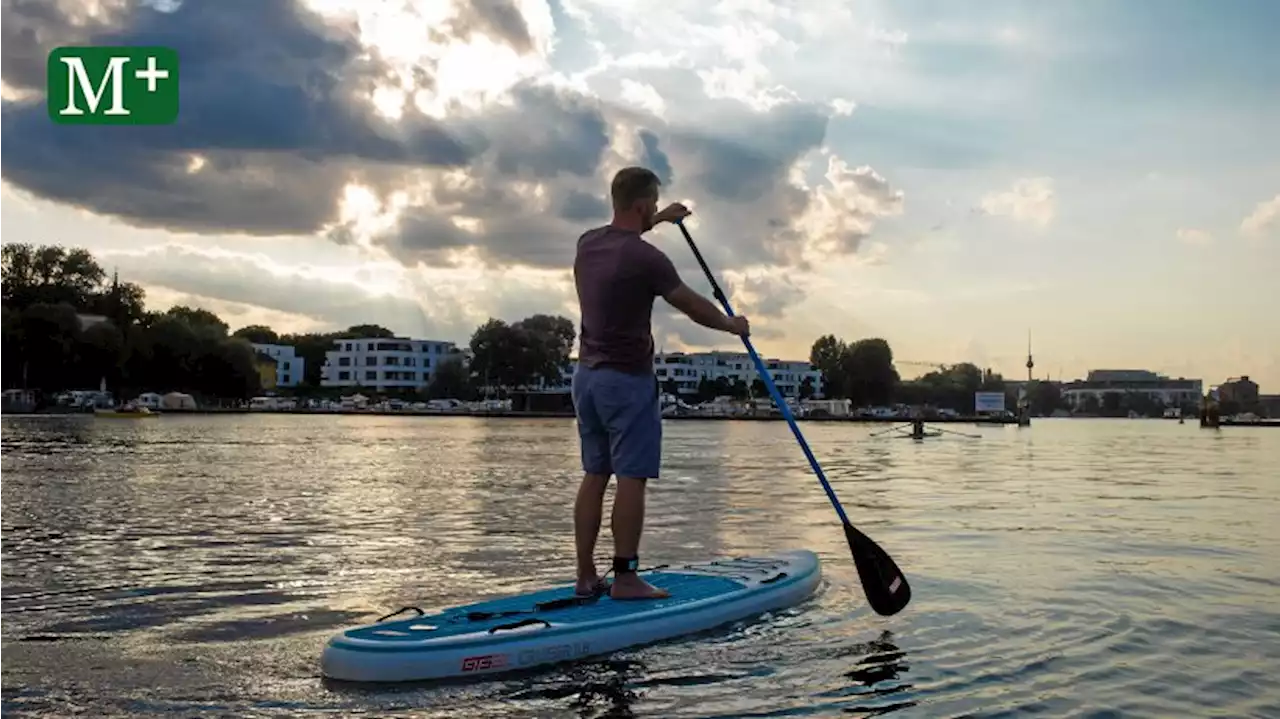
[[[364,386],[379,391],[422,389],[452,342],[407,338],[335,339],[320,367],[320,386]]]

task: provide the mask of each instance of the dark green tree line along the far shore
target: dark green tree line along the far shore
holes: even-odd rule
[[[120,400],[148,391],[178,391],[192,395],[202,409],[244,408],[264,390],[252,343],[292,345],[305,361],[301,384],[276,388],[275,393],[333,400],[353,389],[365,391],[321,386],[320,368],[334,342],[392,336],[394,333],[374,324],[328,333],[276,333],[261,325],[232,331],[207,310],[148,310],[140,285],[109,275],[86,249],[0,246],[0,389],[29,390],[37,408],[54,406],[59,393],[101,385]],[[465,348],[439,363],[422,390],[379,393],[376,399],[468,402],[561,384],[575,342],[575,324],[567,317],[489,319]],[[911,406],[972,415],[975,391],[1005,389],[1000,374],[968,362],[904,380],[882,338],[845,342],[827,334],[813,343],[809,361],[820,372],[823,397],[849,399],[852,407]],[[804,394],[801,388],[801,398]],[[687,399],[696,403],[714,397],[759,399],[767,393],[763,386],[717,379],[701,381]],[[1050,383],[1034,386],[1029,400],[1036,415],[1062,407]],[[845,421],[859,418],[877,421]]]

